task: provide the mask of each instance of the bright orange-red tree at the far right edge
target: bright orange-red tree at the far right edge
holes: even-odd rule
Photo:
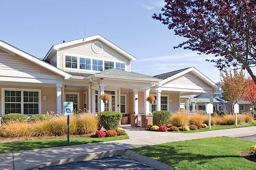
[[[251,78],[248,78],[247,80],[247,90],[244,94],[243,100],[251,103],[254,118],[254,105],[256,104],[256,85]]]

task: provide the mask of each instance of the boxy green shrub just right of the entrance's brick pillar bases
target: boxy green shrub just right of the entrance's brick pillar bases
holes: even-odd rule
[[[153,116],[153,124],[156,126],[167,125],[170,121],[171,113],[163,110],[163,111],[154,111],[152,113]]]

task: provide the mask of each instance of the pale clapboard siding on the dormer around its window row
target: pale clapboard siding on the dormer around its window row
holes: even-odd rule
[[[110,48],[103,42],[101,42],[103,45],[102,53],[96,54],[92,51],[92,43],[94,41],[95,40],[59,49],[59,52],[58,52],[59,53],[59,68],[65,70],[65,68],[63,68],[63,62],[64,62],[63,58],[64,58],[65,54],[67,54],[67,55],[74,54],[74,56],[81,56],[81,57],[87,56],[88,58],[93,58],[93,59],[101,59],[101,60],[116,61],[116,62],[119,61],[119,62],[126,64],[126,66],[125,66],[126,71],[130,71],[130,59],[126,58],[122,54],[120,54],[117,51],[115,51],[114,49]],[[82,71],[83,72],[85,70],[78,69],[78,70],[74,70],[74,71]],[[89,70],[86,70],[86,71],[88,72]]]

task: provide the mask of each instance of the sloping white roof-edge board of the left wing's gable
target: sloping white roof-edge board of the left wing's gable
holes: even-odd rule
[[[56,73],[57,75],[61,75],[61,76],[65,77],[66,79],[71,77],[71,75],[69,75],[65,71],[62,71],[61,69],[59,69],[55,66],[52,66],[49,63],[47,63],[39,58],[36,58],[35,56],[32,56],[31,54],[26,53],[25,51],[22,51],[21,49],[18,49],[16,47],[8,44],[7,42],[0,40],[0,46],[4,49],[7,49],[8,51],[11,51],[14,54],[21,56],[24,59],[31,61],[32,63],[34,63],[36,65],[39,65],[39,66],[45,68],[46,70],[50,70],[50,71]]]

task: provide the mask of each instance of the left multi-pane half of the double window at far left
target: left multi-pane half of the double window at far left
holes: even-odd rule
[[[5,114],[21,113],[21,91],[4,91]]]

